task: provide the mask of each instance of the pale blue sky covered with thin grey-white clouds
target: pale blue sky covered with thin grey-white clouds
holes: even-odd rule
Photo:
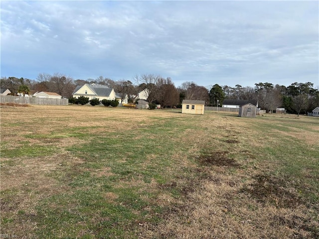
[[[319,86],[319,1],[2,1],[1,76]]]

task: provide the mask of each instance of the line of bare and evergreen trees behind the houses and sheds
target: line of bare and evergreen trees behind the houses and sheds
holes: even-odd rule
[[[72,77],[61,73],[53,75],[40,73],[36,80],[16,77],[1,77],[0,87],[7,88],[11,94],[27,94],[29,91],[55,92],[63,98],[72,97],[72,92],[77,86],[96,83],[113,88],[115,92],[125,94],[129,102],[140,91],[147,90],[148,102],[160,104],[162,107],[174,107],[181,104],[183,99],[202,100],[207,106],[222,107],[225,99],[234,100],[257,100],[262,110],[272,112],[276,108],[285,108],[287,113],[300,114],[311,112],[319,106],[319,90],[313,84],[292,83],[290,86],[273,85],[272,83],[256,83],[255,87],[242,87],[235,85],[220,86],[215,84],[211,87],[199,86],[195,82],[184,82],[180,87],[175,87],[171,78],[161,75],[141,74],[133,77],[133,81],[114,81],[110,78],[99,76],[96,79],[74,80]]]

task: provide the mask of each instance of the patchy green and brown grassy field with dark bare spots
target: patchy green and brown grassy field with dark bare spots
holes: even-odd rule
[[[319,119],[1,106],[1,234],[319,238]]]

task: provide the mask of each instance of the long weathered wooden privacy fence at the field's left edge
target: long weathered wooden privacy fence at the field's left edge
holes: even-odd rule
[[[69,100],[68,99],[23,97],[23,96],[1,96],[0,103],[67,106],[67,105],[69,105]]]

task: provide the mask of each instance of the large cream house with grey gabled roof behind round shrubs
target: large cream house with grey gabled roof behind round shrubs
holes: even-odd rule
[[[113,88],[95,83],[77,86],[72,95],[74,98],[79,98],[80,96],[88,97],[89,100],[98,98],[100,101],[104,99],[113,101],[116,99]]]

